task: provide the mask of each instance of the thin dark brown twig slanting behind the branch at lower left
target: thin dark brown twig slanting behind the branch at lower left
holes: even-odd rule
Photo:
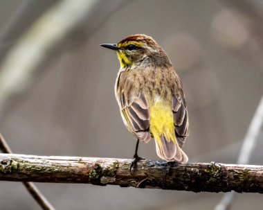
[[[3,135],[0,133],[0,149],[3,153],[12,153],[12,150],[6,143],[6,140],[3,138]],[[24,186],[26,186],[26,189],[30,193],[30,195],[33,196],[35,201],[39,204],[40,207],[44,210],[55,210],[55,208],[51,205],[48,200],[44,197],[44,195],[37,189],[37,186],[33,184],[32,182],[23,182]]]

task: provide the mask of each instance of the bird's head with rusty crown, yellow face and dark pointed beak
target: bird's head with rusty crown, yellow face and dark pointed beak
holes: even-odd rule
[[[100,46],[117,51],[120,67],[125,69],[171,64],[165,51],[148,35],[130,35],[117,44],[100,44]]]

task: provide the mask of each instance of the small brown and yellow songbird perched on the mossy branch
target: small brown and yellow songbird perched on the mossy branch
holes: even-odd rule
[[[100,44],[117,52],[120,70],[115,96],[120,114],[138,143],[154,137],[158,157],[185,164],[181,149],[188,137],[188,110],[183,87],[165,51],[148,35],[130,35],[118,44]]]

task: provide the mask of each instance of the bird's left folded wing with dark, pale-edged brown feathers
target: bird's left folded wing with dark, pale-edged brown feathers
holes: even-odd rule
[[[121,114],[125,124],[134,135],[142,140],[149,141],[149,105],[143,91],[132,90],[129,87],[129,80],[118,88],[118,101],[121,107]]]

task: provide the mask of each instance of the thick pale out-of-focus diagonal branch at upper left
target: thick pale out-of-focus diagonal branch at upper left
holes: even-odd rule
[[[10,50],[0,68],[0,116],[15,94],[33,82],[35,70],[57,42],[92,10],[95,0],[59,1]]]

